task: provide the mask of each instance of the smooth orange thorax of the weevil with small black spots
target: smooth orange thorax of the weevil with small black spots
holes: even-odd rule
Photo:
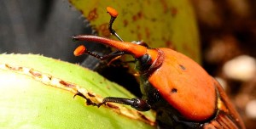
[[[212,76],[182,53],[169,48],[159,48],[162,64],[148,77],[181,118],[186,121],[207,121],[217,109],[217,88]]]

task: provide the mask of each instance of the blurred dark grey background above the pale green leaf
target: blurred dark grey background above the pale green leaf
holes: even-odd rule
[[[0,1],[0,53],[43,54],[76,62],[71,36],[90,32],[83,21],[64,0]]]

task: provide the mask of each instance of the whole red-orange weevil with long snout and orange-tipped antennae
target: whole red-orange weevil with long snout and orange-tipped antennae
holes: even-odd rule
[[[131,54],[140,73],[143,98],[108,97],[102,104],[127,104],[141,111],[154,109],[160,128],[245,128],[218,81],[199,64],[170,48],[123,42],[112,29],[118,13],[113,8],[107,10],[111,15],[109,31],[120,41],[87,35],[73,36],[73,40],[99,42],[119,51],[100,56],[79,47],[75,54],[87,53],[97,59]]]

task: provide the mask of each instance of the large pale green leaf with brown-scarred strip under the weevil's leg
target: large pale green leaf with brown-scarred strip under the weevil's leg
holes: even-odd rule
[[[32,54],[1,54],[0,60],[1,127],[154,128],[148,124],[154,120],[152,112],[143,120],[132,117],[138,115],[135,109],[119,104],[97,108],[73,98],[77,91],[95,103],[107,96],[134,97],[96,72]]]

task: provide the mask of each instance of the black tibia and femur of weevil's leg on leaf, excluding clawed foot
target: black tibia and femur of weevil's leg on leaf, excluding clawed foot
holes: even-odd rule
[[[101,106],[102,104],[106,104],[108,102],[111,103],[117,103],[117,104],[126,104],[130,105],[132,108],[140,110],[140,111],[148,111],[151,109],[151,106],[143,99],[141,98],[114,98],[114,97],[108,97],[104,98],[102,103],[98,106]]]

